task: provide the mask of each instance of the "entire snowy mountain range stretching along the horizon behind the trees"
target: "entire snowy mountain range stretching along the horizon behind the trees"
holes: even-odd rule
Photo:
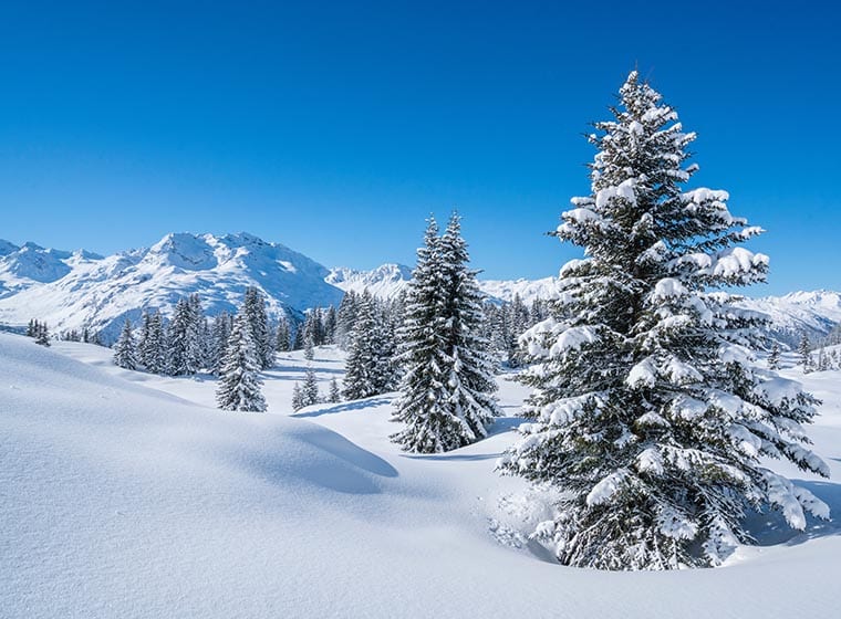
[[[411,267],[402,264],[372,271],[328,269],[285,245],[245,232],[170,233],[150,248],[110,256],[0,240],[0,325],[20,327],[37,317],[53,331],[89,326],[110,340],[125,318],[136,321],[144,308],[169,315],[178,298],[191,293],[198,293],[206,312],[214,315],[233,311],[245,288],[257,286],[266,294],[271,315],[300,316],[309,307],[338,305],[349,291],[395,297],[411,277]],[[479,286],[492,301],[519,295],[529,304],[551,298],[554,282],[554,277],[480,280]],[[741,305],[767,314],[771,335],[788,345],[795,345],[803,332],[818,339],[841,324],[838,292],[798,291],[745,298]]]

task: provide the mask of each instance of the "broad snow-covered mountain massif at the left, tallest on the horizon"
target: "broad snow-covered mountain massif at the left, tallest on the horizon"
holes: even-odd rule
[[[329,271],[279,243],[247,233],[167,234],[148,249],[103,258],[79,251],[0,244],[0,323],[46,321],[54,331],[84,325],[116,335],[143,308],[169,315],[180,296],[199,293],[209,314],[232,311],[247,286],[261,288],[269,311],[338,304]]]

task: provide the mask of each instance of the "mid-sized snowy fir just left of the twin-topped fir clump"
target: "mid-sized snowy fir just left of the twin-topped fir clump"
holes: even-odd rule
[[[384,322],[371,294],[365,291],[356,304],[356,323],[351,332],[345,365],[346,400],[359,400],[394,388],[394,366]]]

